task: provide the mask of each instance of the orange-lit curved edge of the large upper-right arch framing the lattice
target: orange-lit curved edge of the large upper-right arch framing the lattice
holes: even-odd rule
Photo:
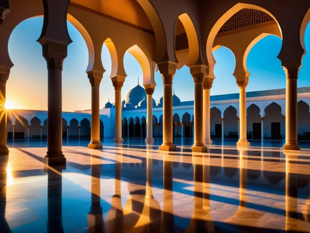
[[[282,39],[282,32],[281,32],[281,28],[280,25],[277,21],[277,19],[266,9],[264,9],[263,7],[259,7],[253,4],[247,4],[247,3],[237,3],[236,5],[234,5],[233,7],[231,7],[228,11],[226,11],[219,19],[218,21],[216,21],[215,25],[212,27],[209,35],[208,35],[208,39],[207,39],[207,44],[206,44],[206,54],[207,54],[207,60],[208,63],[211,66],[215,65],[215,59],[213,57],[212,54],[212,47],[213,47],[213,42],[215,40],[215,36],[217,35],[218,31],[220,30],[220,28],[224,25],[224,23],[230,18],[232,17],[235,13],[237,13],[238,11],[242,10],[242,9],[255,9],[255,10],[259,10],[259,11],[263,11],[265,13],[267,13],[268,15],[270,15],[277,23],[279,30],[280,30],[280,34],[281,34],[281,39]]]

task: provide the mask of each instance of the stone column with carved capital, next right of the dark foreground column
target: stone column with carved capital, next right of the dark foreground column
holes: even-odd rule
[[[102,149],[100,143],[100,104],[99,86],[102,80],[102,71],[86,72],[91,84],[91,141],[88,148]]]

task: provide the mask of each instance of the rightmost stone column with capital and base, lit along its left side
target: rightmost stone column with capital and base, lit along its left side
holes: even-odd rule
[[[299,67],[284,67],[286,75],[284,150],[300,150],[297,143],[297,79]]]

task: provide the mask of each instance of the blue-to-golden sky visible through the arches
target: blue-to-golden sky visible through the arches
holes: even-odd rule
[[[13,30],[9,40],[9,54],[14,66],[7,81],[7,101],[16,108],[47,110],[47,66],[42,57],[42,47],[36,42],[41,34],[42,24],[43,17],[25,20]],[[86,43],[78,30],[69,22],[68,30],[73,43],[69,45],[68,57],[64,61],[63,111],[89,109],[91,88],[85,73],[88,63]],[[269,35],[252,48],[247,58],[248,70],[251,73],[247,91],[285,88],[285,75],[281,68],[281,61],[277,58],[281,43],[280,38]],[[310,49],[310,24],[306,30],[305,44],[306,49]],[[232,76],[235,68],[232,52],[221,47],[213,55],[216,64],[211,95],[239,92],[236,80]],[[100,85],[100,107],[104,106],[108,98],[110,102],[114,101],[114,88],[109,78],[111,57],[105,45],[102,48],[102,63],[106,72]],[[131,88],[137,85],[138,75],[142,77],[142,69],[130,53],[124,56],[124,67],[128,76],[122,88],[122,99]],[[306,53],[299,74],[299,87],[310,86],[309,74],[310,53]],[[157,101],[163,91],[159,72],[155,73],[155,82],[157,86],[153,98]],[[176,71],[173,87],[181,101],[193,100],[194,83],[188,67],[184,66]]]

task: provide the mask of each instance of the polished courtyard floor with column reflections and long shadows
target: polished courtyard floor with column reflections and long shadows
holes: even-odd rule
[[[308,232],[309,149],[63,147],[0,157],[0,232]]]

